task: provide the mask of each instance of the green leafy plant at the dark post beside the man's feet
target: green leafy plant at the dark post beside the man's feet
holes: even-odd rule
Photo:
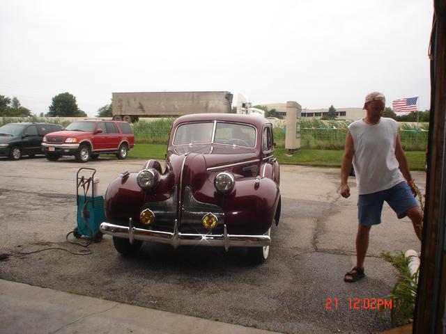
[[[397,255],[390,255],[389,252],[386,252],[382,253],[381,256],[399,270],[398,282],[394,285],[392,292],[385,298],[392,299],[392,311],[390,312],[392,325],[398,323],[405,325],[413,318],[413,311],[415,310],[418,271],[413,275],[410,274],[409,259],[402,252]],[[383,307],[380,308],[380,311],[382,310]]]

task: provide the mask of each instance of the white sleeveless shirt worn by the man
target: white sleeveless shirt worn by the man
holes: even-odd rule
[[[395,157],[395,120],[380,118],[378,124],[357,120],[348,125],[348,131],[353,137],[353,167],[360,195],[390,189],[404,181]]]

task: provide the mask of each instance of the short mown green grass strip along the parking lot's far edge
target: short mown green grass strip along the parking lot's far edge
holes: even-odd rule
[[[157,144],[137,144],[129,151],[130,158],[165,159],[167,146]],[[337,150],[298,150],[292,156],[286,155],[284,148],[277,148],[275,154],[279,164],[341,167],[342,154]],[[424,170],[426,154],[424,151],[408,151],[406,157],[411,170]]]

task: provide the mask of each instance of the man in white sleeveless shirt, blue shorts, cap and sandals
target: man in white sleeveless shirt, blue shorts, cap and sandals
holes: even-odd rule
[[[344,276],[348,283],[364,277],[369,232],[372,225],[381,222],[384,201],[397,213],[398,218],[410,218],[420,239],[422,214],[414,198],[415,182],[401,147],[397,122],[381,117],[384,107],[384,95],[370,93],[364,102],[366,116],[348,126],[341,166],[341,196],[350,196],[347,180],[352,164],[359,193],[356,266]]]

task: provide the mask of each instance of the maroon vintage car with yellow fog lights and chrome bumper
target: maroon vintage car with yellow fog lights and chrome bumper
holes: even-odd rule
[[[263,262],[272,222],[279,222],[279,180],[268,120],[183,116],[172,125],[164,170],[148,160],[139,173],[123,173],[109,185],[108,222],[100,230],[123,255],[153,241],[247,247],[254,262]]]

